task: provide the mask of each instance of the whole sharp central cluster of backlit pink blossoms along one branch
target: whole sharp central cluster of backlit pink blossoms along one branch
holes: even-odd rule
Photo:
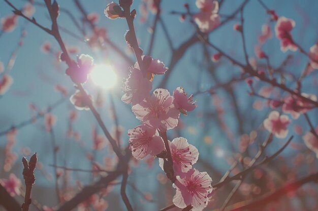
[[[175,138],[172,142],[167,140],[168,148],[161,136],[177,126],[180,113],[186,115],[196,108],[193,96],[188,97],[182,87],[175,89],[172,96],[166,89],[155,89],[150,95],[153,76],[164,74],[168,68],[150,56],[142,56],[142,67],[144,72],[138,63],[131,67],[122,86],[124,94],[121,100],[132,105],[136,118],[143,123],[128,131],[132,155],[136,159],[143,159],[147,155],[166,154],[169,149],[176,176],[173,181],[173,187],[177,189],[174,204],[180,208],[192,205],[194,210],[202,210],[207,206],[208,195],[212,192],[212,180],[206,172],[199,172],[192,167],[199,157],[197,148],[188,144],[183,137]],[[164,171],[167,161],[165,156],[159,158]]]

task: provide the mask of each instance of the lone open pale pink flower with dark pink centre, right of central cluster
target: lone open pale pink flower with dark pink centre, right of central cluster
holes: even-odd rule
[[[285,138],[288,134],[287,125],[291,123],[287,115],[279,115],[278,111],[272,111],[264,120],[264,127],[277,138]]]

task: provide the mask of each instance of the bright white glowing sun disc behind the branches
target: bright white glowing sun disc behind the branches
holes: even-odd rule
[[[117,75],[109,65],[95,65],[89,77],[94,85],[104,90],[112,88],[117,83]]]

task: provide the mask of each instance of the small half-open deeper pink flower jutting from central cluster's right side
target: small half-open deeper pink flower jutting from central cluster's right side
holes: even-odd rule
[[[187,94],[184,92],[182,87],[178,87],[173,92],[173,104],[176,109],[179,109],[181,113],[187,115],[187,111],[193,111],[197,106],[193,102],[193,96],[190,95],[187,97]]]

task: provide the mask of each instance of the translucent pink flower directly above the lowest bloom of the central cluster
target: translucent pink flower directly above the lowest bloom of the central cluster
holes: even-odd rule
[[[170,151],[173,160],[173,171],[175,175],[184,178],[192,165],[195,164],[199,158],[198,149],[188,144],[185,138],[175,138],[172,142],[169,142]],[[159,158],[159,165],[164,170],[164,159]]]

